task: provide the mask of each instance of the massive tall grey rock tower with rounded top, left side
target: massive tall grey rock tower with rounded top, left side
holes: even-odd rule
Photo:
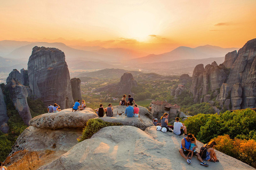
[[[35,98],[61,108],[74,104],[65,54],[57,48],[33,48],[28,61],[29,87]]]

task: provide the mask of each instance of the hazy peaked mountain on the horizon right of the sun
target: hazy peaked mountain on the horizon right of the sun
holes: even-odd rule
[[[163,54],[150,54],[145,57],[136,59],[140,63],[157,63],[157,62],[170,62],[175,60],[187,59],[202,59],[212,57],[224,57],[228,52],[238,50],[238,48],[221,48],[217,46],[199,46],[196,48],[178,47],[168,53]]]

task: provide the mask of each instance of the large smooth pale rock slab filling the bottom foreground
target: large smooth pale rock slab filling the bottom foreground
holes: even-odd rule
[[[178,152],[182,136],[142,131],[133,126],[109,126],[91,139],[78,143],[43,169],[203,169],[196,157],[188,165]],[[203,144],[197,142],[198,148]],[[198,151],[199,149],[197,149]],[[207,162],[210,169],[254,169],[241,161],[217,152],[219,163]]]

